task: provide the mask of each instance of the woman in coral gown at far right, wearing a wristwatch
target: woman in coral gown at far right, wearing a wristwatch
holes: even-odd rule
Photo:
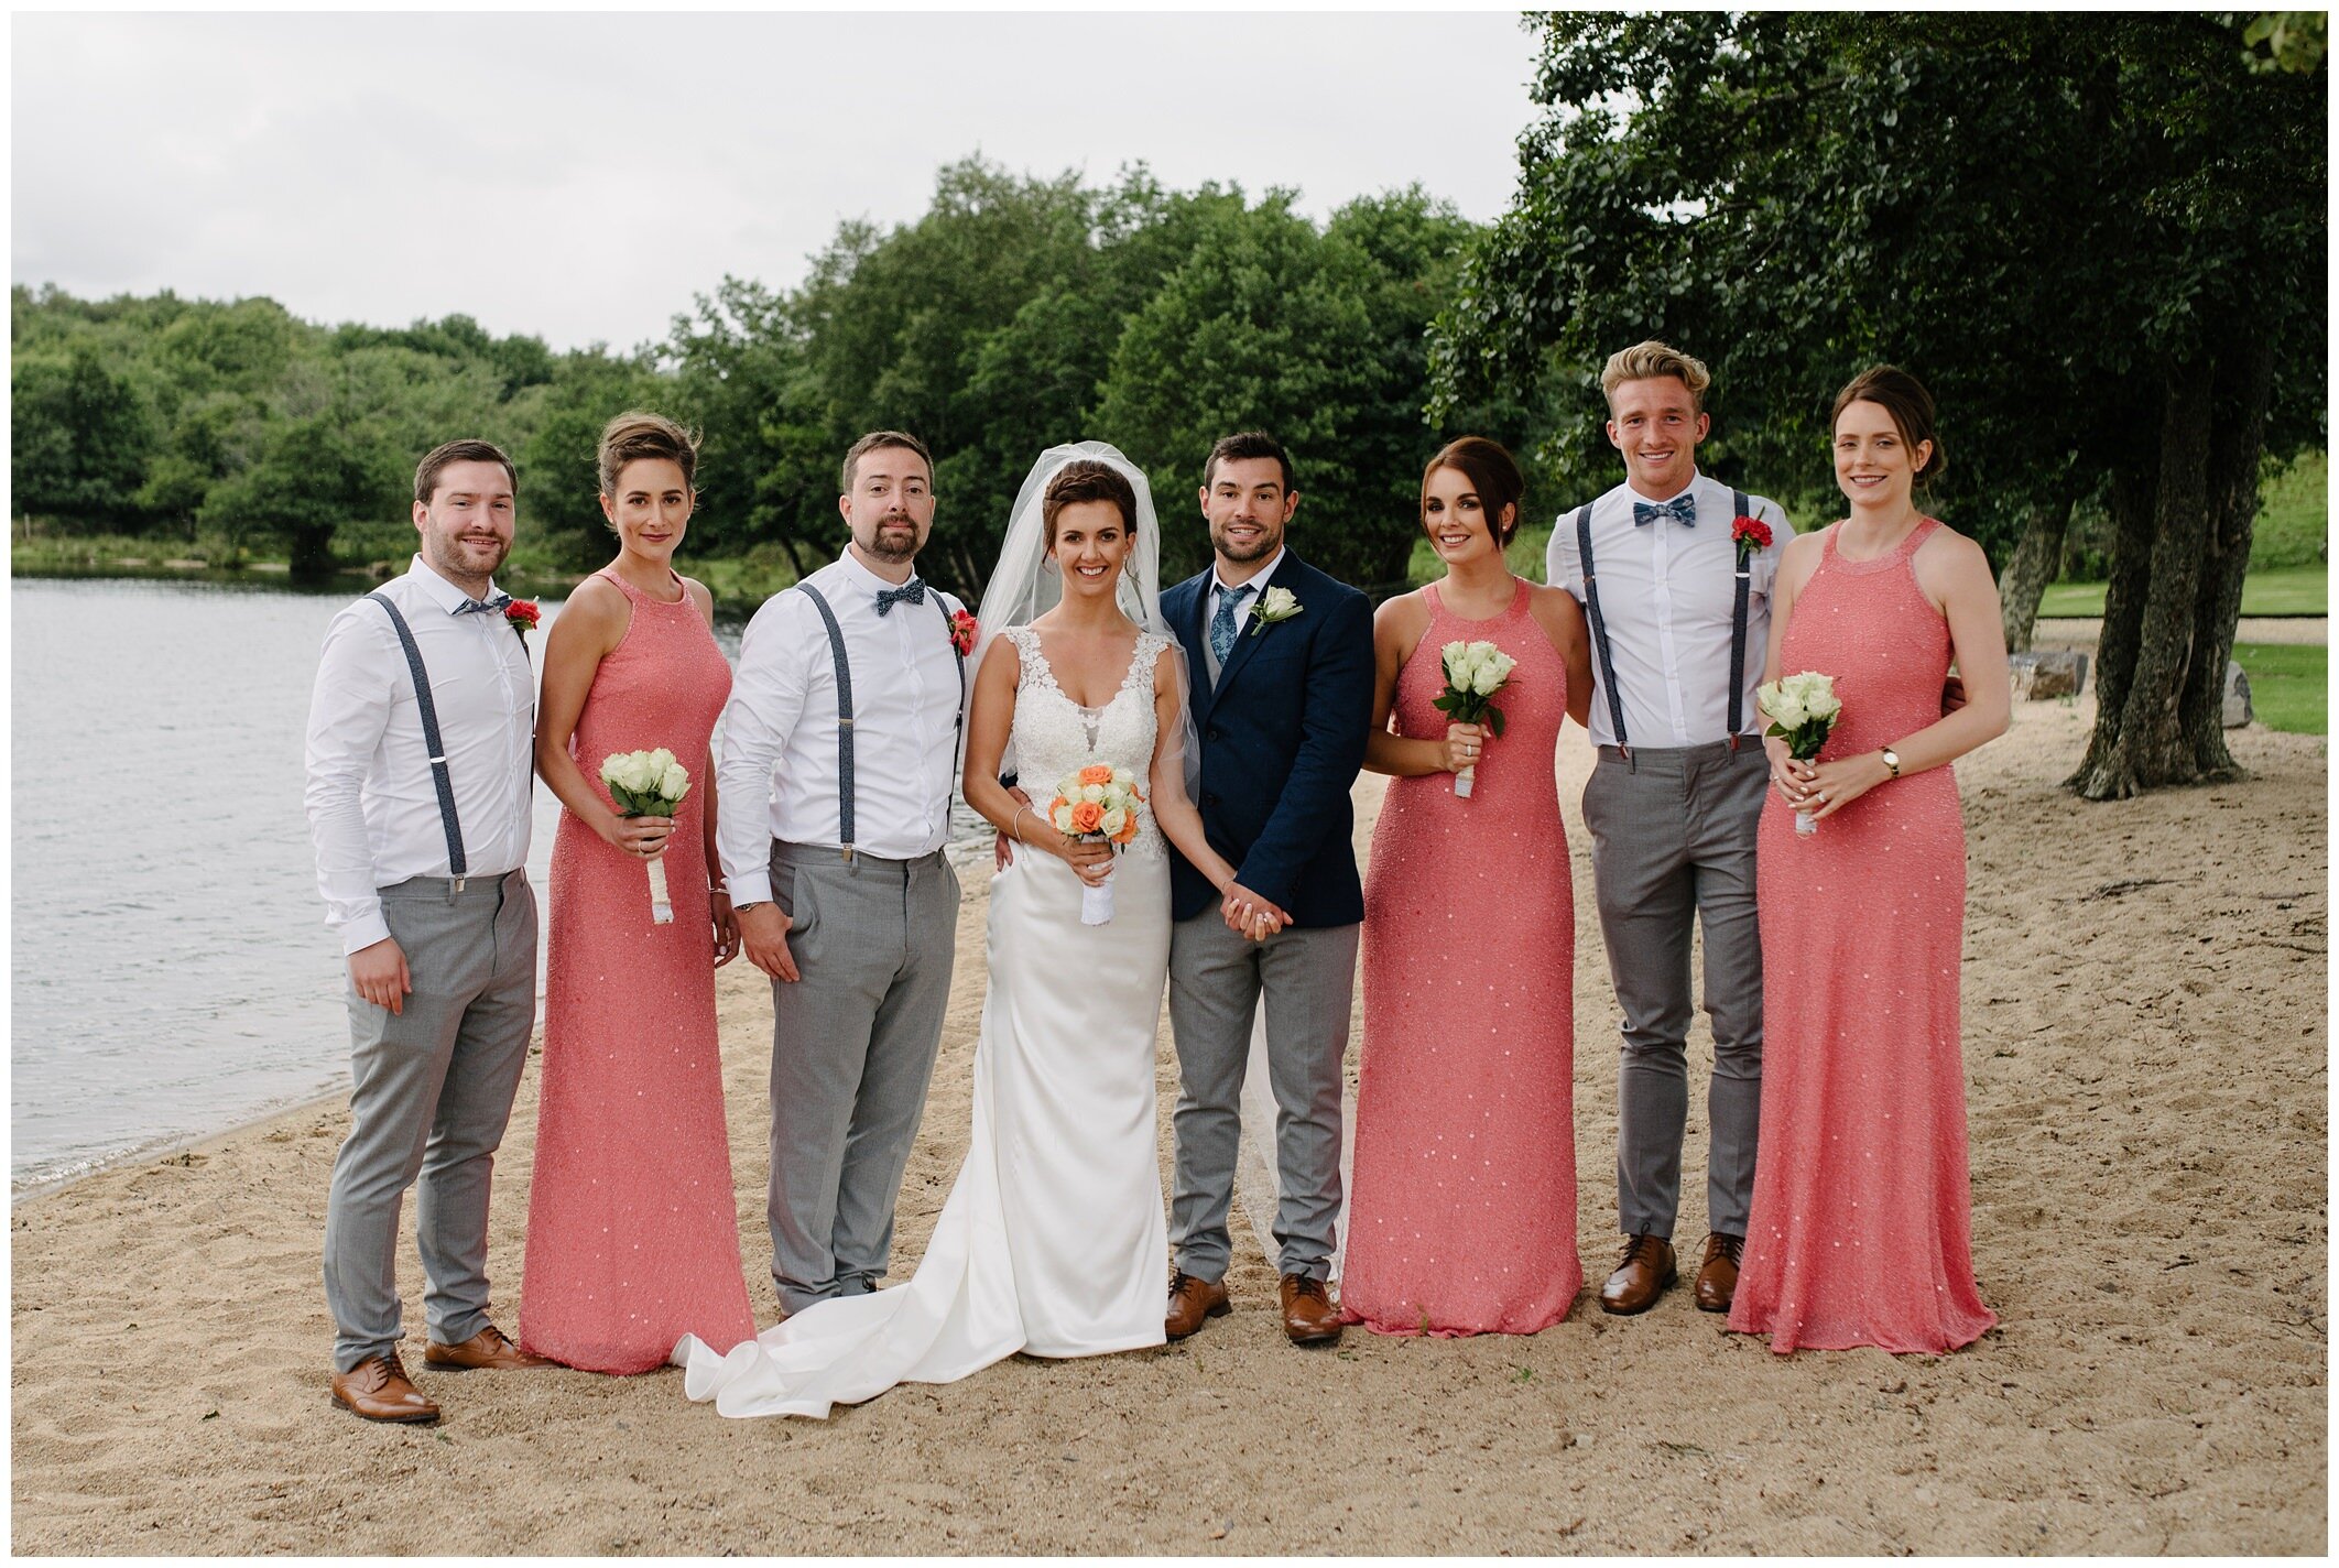
[[[1766,679],[1829,674],[1843,714],[1815,765],[1766,742],[1761,1140],[1731,1327],[1780,1353],[1941,1353],[1998,1322],[1972,1259],[1948,763],[2005,733],[2007,646],[1981,548],[1911,501],[1941,470],[1916,377],[1857,377],[1834,442],[1850,517],[1787,545],[1771,601]],[[1951,658],[1969,700],[1944,716]]]

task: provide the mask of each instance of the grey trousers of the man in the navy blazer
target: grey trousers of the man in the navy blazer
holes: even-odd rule
[[[1340,1058],[1347,1053],[1361,927],[1286,929],[1265,943],[1226,929],[1216,908],[1170,929],[1170,1027],[1177,1037],[1177,1266],[1219,1280],[1233,1257],[1226,1210],[1242,1147],[1242,1077],[1251,1018],[1268,997],[1275,1091],[1277,1268],[1331,1275],[1340,1217]]]

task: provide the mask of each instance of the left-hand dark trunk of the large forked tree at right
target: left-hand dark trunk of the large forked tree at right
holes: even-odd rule
[[[2091,772],[2082,768],[2079,793],[2089,800],[2124,800],[2157,784],[2199,777],[2192,747],[2178,728],[2178,702],[2192,662],[2201,548],[2208,536],[2213,372],[2215,360],[2203,356],[2171,372],[2164,391],[2150,592],[2136,632],[2136,669],[2119,695],[2110,747]],[[2100,686],[2096,702],[2100,737],[2110,711],[2110,693]]]

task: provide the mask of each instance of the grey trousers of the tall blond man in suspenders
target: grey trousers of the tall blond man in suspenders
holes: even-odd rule
[[[1689,1119],[1689,929],[1705,931],[1705,1229],[1747,1233],[1761,1116],[1761,927],[1754,826],[1771,782],[1759,742],[1661,751],[1600,747],[1584,784],[1593,887],[1623,1006],[1616,1067],[1616,1217],[1626,1236],[1672,1236]]]

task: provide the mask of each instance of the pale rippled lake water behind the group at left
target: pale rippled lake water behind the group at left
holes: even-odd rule
[[[302,814],[309,683],[346,601],[12,585],[12,1191],[346,1091],[346,971]],[[716,627],[732,660],[741,625]],[[538,896],[559,810],[536,791]],[[980,854],[987,828],[961,805],[954,838]]]

